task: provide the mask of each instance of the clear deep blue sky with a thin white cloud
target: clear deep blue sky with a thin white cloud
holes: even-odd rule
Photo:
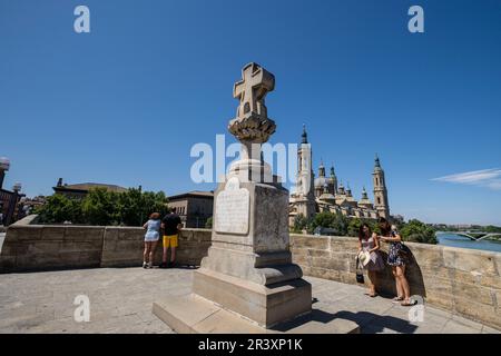
[[[73,31],[78,4],[90,33]],[[413,4],[424,33],[407,31]],[[234,141],[233,83],[256,61],[276,77],[272,142],[305,122],[315,167],[334,162],[356,197],[377,152],[393,214],[501,225],[500,43],[497,0],[0,0],[6,186],[210,189],[190,148]]]

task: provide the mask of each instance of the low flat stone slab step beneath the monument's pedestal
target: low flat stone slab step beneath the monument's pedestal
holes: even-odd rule
[[[324,312],[317,309],[265,328],[195,294],[168,297],[154,303],[153,313],[178,334],[360,333],[356,323],[342,318],[325,318]]]

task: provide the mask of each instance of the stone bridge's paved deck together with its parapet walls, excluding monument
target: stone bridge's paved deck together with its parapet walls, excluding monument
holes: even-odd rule
[[[35,218],[11,226],[1,248],[0,332],[90,332],[69,319],[75,308],[70,299],[77,293],[95,295],[99,301],[95,332],[168,332],[151,316],[151,304],[160,295],[188,293],[190,268],[199,265],[210,246],[210,230],[185,229],[178,250],[181,268],[117,269],[141,264],[141,228],[42,226],[32,224]],[[356,246],[351,237],[291,235],[294,261],[313,285],[313,307],[320,319],[345,317],[363,333],[501,329],[501,254],[406,244],[411,293],[422,296],[430,312],[430,323],[420,325],[409,322],[409,309],[389,299],[394,295],[389,269],[379,276],[382,297],[363,295],[355,280]],[[66,309],[59,308],[61,298]],[[134,317],[127,318],[128,313]],[[124,326],[128,319],[143,322],[128,328]]]

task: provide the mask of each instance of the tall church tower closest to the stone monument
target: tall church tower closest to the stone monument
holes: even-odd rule
[[[308,144],[306,127],[303,125],[303,135],[297,150],[297,185],[296,185],[297,214],[312,217],[316,212],[313,168],[312,168],[312,146]]]

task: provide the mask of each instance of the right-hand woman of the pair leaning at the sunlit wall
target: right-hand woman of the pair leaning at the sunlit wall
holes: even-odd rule
[[[396,284],[396,297],[394,301],[401,301],[402,306],[412,306],[411,288],[409,287],[407,278],[405,277],[405,251],[396,226],[390,225],[386,219],[380,219],[381,240],[389,243],[390,248],[387,253],[387,264],[392,266],[393,276]]]

